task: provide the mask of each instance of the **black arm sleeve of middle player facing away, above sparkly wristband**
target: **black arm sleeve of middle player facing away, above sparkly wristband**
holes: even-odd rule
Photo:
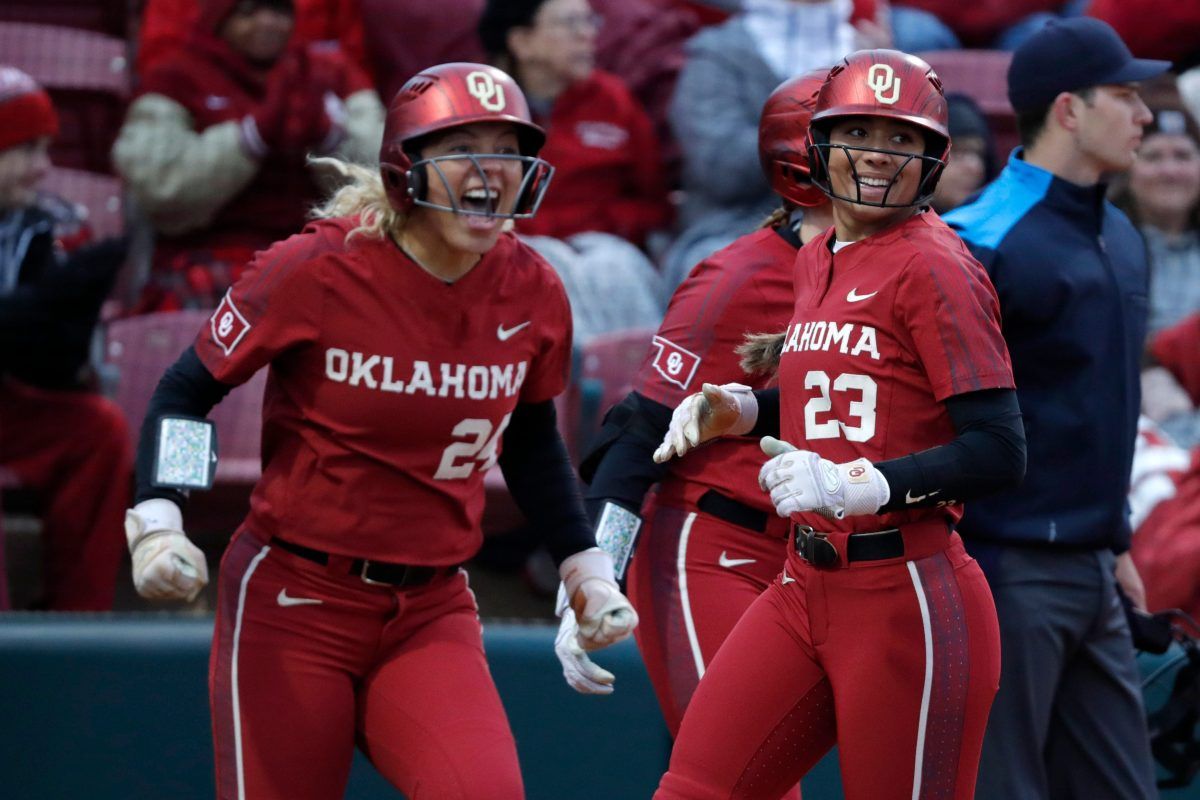
[[[584,457],[589,480],[584,505],[593,524],[605,503],[640,513],[650,486],[671,470],[655,464],[654,451],[671,425],[673,409],[630,392],[605,416],[596,445]]]

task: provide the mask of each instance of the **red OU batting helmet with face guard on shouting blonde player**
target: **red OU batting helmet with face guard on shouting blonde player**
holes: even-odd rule
[[[450,206],[426,200],[430,170],[445,181],[439,162],[468,160],[487,185],[476,154],[425,160],[416,155],[418,140],[422,137],[475,122],[509,122],[516,128],[520,156],[487,155],[487,160],[508,158],[522,163],[524,178],[509,213],[500,213],[494,207],[487,211],[463,209],[452,192]],[[523,219],[538,211],[554,173],[553,167],[538,158],[545,142],[546,133],[533,124],[524,94],[505,72],[484,64],[442,64],[409,78],[391,101],[379,148],[379,170],[388,199],[400,212],[422,205],[456,213]]]

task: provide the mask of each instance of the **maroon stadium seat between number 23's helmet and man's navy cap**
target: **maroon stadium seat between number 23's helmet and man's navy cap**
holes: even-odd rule
[[[1006,50],[930,50],[920,53],[947,94],[964,94],[979,103],[996,137],[996,155],[1001,161],[1018,145],[1016,116],[1008,102],[1008,62]]]

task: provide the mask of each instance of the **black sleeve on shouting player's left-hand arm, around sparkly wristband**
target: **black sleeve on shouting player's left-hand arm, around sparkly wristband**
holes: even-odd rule
[[[137,480],[138,488],[134,503],[150,498],[173,500],[182,509],[187,494],[179,489],[154,486],[154,453],[157,441],[158,420],[167,415],[205,417],[212,407],[221,402],[233,386],[222,384],[212,377],[196,355],[196,348],[187,348],[175,363],[168,367],[158,386],[150,397],[150,407],[142,421],[142,433],[138,437]],[[220,443],[217,443],[220,445]]]

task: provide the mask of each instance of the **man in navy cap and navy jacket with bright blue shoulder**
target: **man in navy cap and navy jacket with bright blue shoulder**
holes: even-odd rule
[[[1151,113],[1105,23],[1050,22],[1014,54],[1008,96],[1024,148],[946,221],[1000,296],[1028,467],[960,524],[996,600],[1000,692],[977,796],[1154,798],[1153,760],[1118,587],[1145,606],[1126,492],[1140,401],[1147,263],[1105,200]]]

